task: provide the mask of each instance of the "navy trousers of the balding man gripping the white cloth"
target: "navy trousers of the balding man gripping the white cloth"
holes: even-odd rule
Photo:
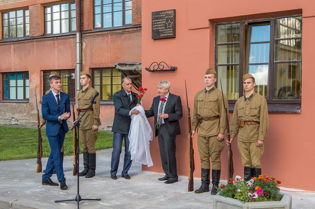
[[[129,138],[128,134],[114,133],[113,137],[113,151],[112,151],[112,162],[111,162],[111,175],[116,175],[119,165],[119,158],[123,145],[123,138],[125,139],[125,157],[123,161],[123,171],[122,176],[128,174],[128,171],[131,167],[132,160],[129,152]]]

